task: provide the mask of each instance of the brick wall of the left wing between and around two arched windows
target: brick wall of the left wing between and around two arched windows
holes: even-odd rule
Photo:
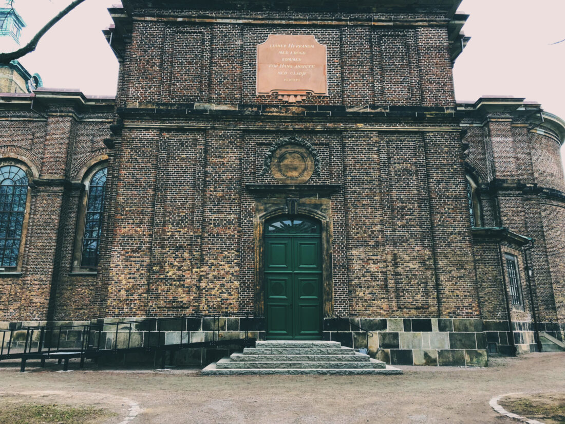
[[[8,161],[28,171],[31,201],[25,245],[20,248],[21,267],[2,275],[0,320],[92,316],[89,288],[95,277],[68,275],[77,214],[72,187],[81,183],[77,174],[84,172],[93,152],[103,146],[112,102],[100,99],[82,109],[68,99],[56,101],[53,109],[49,101],[41,106],[36,102],[40,115],[29,112],[25,102],[30,97],[19,100],[23,103],[15,106],[0,102],[0,114],[7,118],[0,123],[0,165]]]

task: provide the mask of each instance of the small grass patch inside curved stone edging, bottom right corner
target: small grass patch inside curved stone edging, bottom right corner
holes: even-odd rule
[[[565,393],[514,395],[498,401],[508,412],[545,424],[565,424]]]

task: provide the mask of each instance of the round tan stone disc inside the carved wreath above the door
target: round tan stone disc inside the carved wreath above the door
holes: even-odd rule
[[[314,158],[304,146],[286,144],[273,153],[271,172],[283,184],[306,183],[314,173]]]

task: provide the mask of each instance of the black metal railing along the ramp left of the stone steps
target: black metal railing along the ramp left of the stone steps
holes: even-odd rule
[[[239,318],[237,330],[228,333],[227,323],[222,320]],[[142,318],[128,321],[89,323],[70,326],[34,326],[19,330],[2,330],[0,360],[21,358],[21,370],[28,359],[57,358],[65,361],[80,358],[81,366],[86,358],[97,360],[103,355],[131,352],[159,352],[161,366],[165,366],[166,353],[171,362],[176,351],[189,348],[215,348],[221,345],[253,345],[250,338],[249,313],[219,313],[188,315],[171,318]],[[224,333],[225,332],[225,333]],[[239,332],[238,337],[229,337]]]

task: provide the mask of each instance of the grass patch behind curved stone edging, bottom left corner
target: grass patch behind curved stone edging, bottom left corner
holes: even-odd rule
[[[58,404],[7,404],[0,409],[0,424],[93,424],[114,416],[106,409]]]

